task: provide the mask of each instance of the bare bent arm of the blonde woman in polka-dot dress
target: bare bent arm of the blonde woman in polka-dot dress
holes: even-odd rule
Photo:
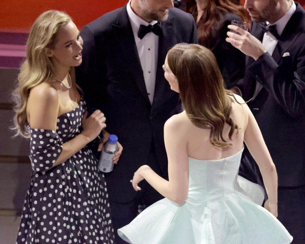
[[[40,129],[56,131],[57,117],[59,111],[59,100],[57,91],[52,87],[35,87],[31,91],[30,99],[34,101],[33,103],[30,103],[28,105],[28,112],[30,114],[29,122],[31,128],[38,129],[38,132],[40,131]],[[57,155],[57,158],[55,158],[55,162],[52,165],[47,166],[47,169],[50,169],[66,161],[66,159],[70,158],[81,148],[87,145],[90,141],[96,138],[101,132],[101,130],[106,127],[106,118],[104,117],[104,114],[101,113],[99,110],[96,110],[88,118],[86,117],[87,113],[84,114],[82,119],[83,131],[75,138],[71,139],[70,141],[67,141],[66,143],[63,143],[62,145],[60,145],[60,147],[57,147],[60,151],[60,154]],[[51,148],[48,148],[45,144],[42,144],[42,147],[43,148],[41,149],[44,149],[44,152],[45,150],[48,151],[52,148],[52,146]],[[33,169],[35,171],[40,171],[37,170],[39,169],[39,167],[33,167]]]

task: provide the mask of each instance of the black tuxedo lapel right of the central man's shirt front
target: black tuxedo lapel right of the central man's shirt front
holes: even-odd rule
[[[164,78],[164,70],[162,68],[168,50],[170,50],[170,48],[173,46],[173,43],[176,43],[175,34],[172,28],[173,20],[174,17],[169,17],[167,21],[161,22],[162,35],[159,36],[155,95],[152,103],[154,107],[160,103],[163,103],[164,100],[169,99],[172,95],[175,94],[175,92],[171,91],[168,82],[166,82]],[[171,95],[168,96],[169,94]]]

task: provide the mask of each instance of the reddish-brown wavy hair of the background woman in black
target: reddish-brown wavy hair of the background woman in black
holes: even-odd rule
[[[191,13],[196,20],[197,11],[195,10],[196,1],[186,0],[185,12]],[[234,4],[231,0],[210,0],[197,23],[197,36],[200,45],[210,49],[213,48],[213,43],[210,41],[211,36],[221,28],[220,24],[226,12],[240,16],[245,22],[249,20],[249,14],[240,4],[240,1],[239,4]]]

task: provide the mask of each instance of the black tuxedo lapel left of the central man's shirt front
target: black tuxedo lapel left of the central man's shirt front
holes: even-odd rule
[[[138,49],[135,44],[135,37],[131,28],[130,20],[128,18],[126,5],[118,14],[117,23],[112,25],[114,36],[120,46],[120,52],[123,54],[127,67],[134,77],[138,88],[142,92],[145,100],[149,103],[149,98],[145,86],[143,70],[138,55]],[[119,72],[119,71],[118,71]]]

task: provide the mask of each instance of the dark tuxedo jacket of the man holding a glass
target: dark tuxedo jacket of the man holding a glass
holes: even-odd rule
[[[257,61],[247,56],[245,78],[238,83],[245,100],[253,97],[249,107],[276,166],[279,186],[305,185],[304,16],[296,3],[272,56],[265,53]],[[251,34],[262,41],[259,23],[253,23]],[[260,86],[254,94],[256,81]],[[246,161],[242,160],[240,169],[244,176],[252,167]]]

